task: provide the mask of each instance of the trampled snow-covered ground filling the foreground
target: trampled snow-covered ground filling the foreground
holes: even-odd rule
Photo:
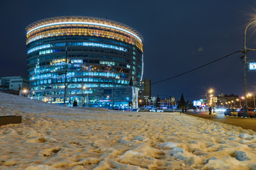
[[[89,111],[0,93],[0,169],[256,169],[256,132],[180,113]]]

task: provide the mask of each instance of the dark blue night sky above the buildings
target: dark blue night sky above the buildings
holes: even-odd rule
[[[118,21],[144,37],[144,79],[151,83],[181,74],[242,49],[245,26],[256,11],[255,0],[172,1],[1,1],[0,77],[25,76],[26,26],[55,16],[95,16]],[[255,27],[247,47],[256,48]],[[183,93],[186,101],[215,94],[242,96],[241,53],[151,86],[161,98]],[[248,60],[256,52],[247,53]],[[256,93],[256,72],[247,73],[248,91]]]

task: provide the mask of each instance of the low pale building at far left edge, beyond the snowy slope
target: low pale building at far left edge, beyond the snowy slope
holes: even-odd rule
[[[1,77],[0,86],[6,91],[20,91],[23,87],[28,88],[29,81],[25,77]]]

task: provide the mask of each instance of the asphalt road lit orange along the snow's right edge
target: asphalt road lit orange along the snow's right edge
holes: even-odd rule
[[[224,115],[224,113],[212,113],[209,115],[208,112],[194,112],[185,113],[188,115],[193,115],[200,118],[205,118],[208,120],[218,121],[221,123],[226,123],[228,125],[235,125],[247,130],[253,130],[256,132],[256,119],[255,118],[240,118],[237,116]]]

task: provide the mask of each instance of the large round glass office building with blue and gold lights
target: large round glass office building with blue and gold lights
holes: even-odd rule
[[[137,108],[143,44],[136,30],[103,18],[61,16],[31,23],[26,31],[32,98]]]

